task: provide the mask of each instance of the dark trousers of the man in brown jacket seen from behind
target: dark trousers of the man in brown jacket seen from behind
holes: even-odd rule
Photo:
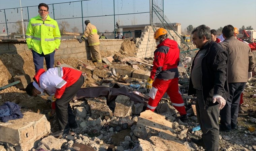
[[[229,98],[226,105],[220,110],[220,127],[231,130],[236,128],[240,95],[245,89],[246,83],[228,83]]]

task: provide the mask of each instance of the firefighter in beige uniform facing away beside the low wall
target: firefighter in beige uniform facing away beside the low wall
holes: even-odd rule
[[[100,41],[97,33],[97,28],[90,23],[90,20],[86,20],[85,25],[86,25],[86,28],[85,28],[84,35],[81,37],[81,39],[78,39],[78,41],[79,43],[82,43],[87,37],[89,47],[91,48],[94,64],[102,63],[100,49],[99,49]]]

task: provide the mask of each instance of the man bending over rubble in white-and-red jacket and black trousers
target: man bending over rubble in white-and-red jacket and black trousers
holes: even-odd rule
[[[54,94],[51,101],[55,103],[59,131],[52,135],[58,137],[67,134],[70,128],[77,128],[69,102],[84,84],[82,72],[68,67],[50,68],[47,71],[39,69],[33,80],[26,87],[28,95]]]

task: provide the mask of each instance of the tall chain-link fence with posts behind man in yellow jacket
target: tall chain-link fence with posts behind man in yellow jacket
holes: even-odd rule
[[[48,6],[50,17],[58,22],[63,34],[83,33],[87,19],[98,33],[115,34],[119,26],[150,24],[150,5],[151,0],[82,0]],[[0,36],[22,36],[29,19],[36,15],[38,6],[1,9],[0,29],[5,32],[0,30]]]

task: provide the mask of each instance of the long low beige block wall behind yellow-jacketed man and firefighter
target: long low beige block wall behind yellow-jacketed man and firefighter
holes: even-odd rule
[[[123,43],[122,39],[103,39],[100,40],[100,51],[104,53],[108,52],[117,52],[120,50],[121,44]],[[9,53],[17,54],[22,51],[29,51],[26,40],[20,41],[5,41],[0,42],[0,54]],[[82,58],[90,59],[91,51],[88,47],[88,41],[85,43],[79,43],[77,40],[62,40],[59,49],[55,53],[55,59],[65,59],[65,58]]]

